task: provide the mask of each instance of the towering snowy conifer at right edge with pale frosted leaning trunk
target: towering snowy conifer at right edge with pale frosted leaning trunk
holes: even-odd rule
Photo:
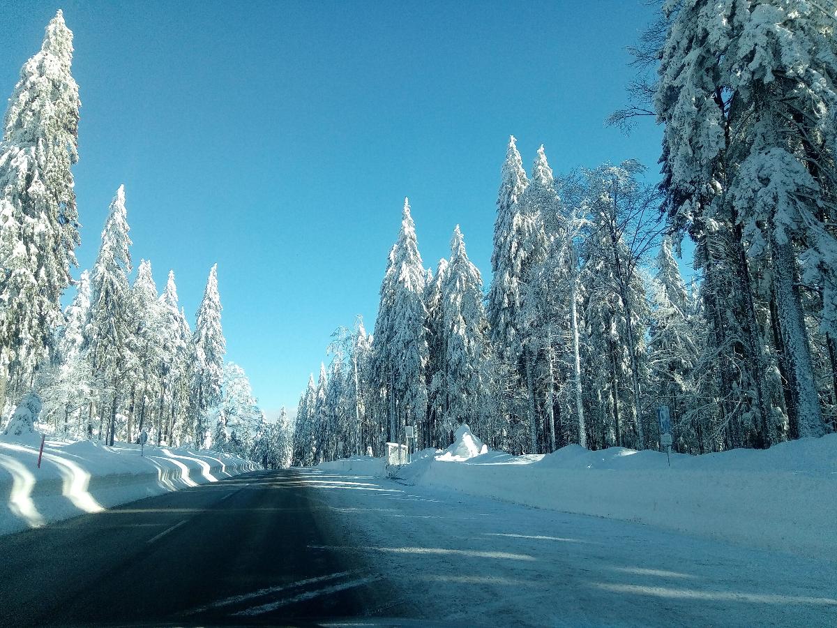
[[[827,5],[826,5],[827,6]],[[763,0],[738,11],[732,22],[728,96],[738,137],[728,179],[747,254],[767,256],[773,269],[771,301],[778,319],[778,350],[788,380],[792,437],[827,429],[800,293],[800,260],[808,289],[825,298],[818,317],[824,331],[837,327],[837,238],[834,214],[834,145],[823,143],[837,107],[837,44],[830,14],[814,3]],[[739,135],[740,134],[740,135]],[[765,444],[769,444],[765,443]]]

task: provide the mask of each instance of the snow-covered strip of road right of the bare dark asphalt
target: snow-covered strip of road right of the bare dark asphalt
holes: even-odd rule
[[[391,608],[459,625],[837,625],[833,562],[368,476],[300,471]],[[300,478],[301,480],[301,478]],[[382,605],[387,606],[383,600]]]

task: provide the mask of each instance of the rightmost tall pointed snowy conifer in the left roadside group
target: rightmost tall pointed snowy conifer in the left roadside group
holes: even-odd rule
[[[218,265],[209,270],[203,300],[195,317],[195,332],[192,338],[193,363],[193,407],[195,410],[195,440],[203,443],[208,425],[204,414],[218,403],[223,378],[223,356],[226,341],[221,329],[221,297],[218,295]]]

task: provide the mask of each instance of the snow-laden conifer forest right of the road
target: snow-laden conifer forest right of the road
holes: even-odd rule
[[[372,333],[339,327],[300,397],[293,461],[577,443],[768,448],[837,430],[837,39],[819,3],[667,2],[632,49],[609,122],[652,116],[660,177],[635,161],[502,162],[491,278],[454,228],[424,267],[405,201]],[[678,257],[690,243],[693,274]]]

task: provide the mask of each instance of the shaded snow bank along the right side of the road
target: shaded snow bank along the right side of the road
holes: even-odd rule
[[[447,453],[447,452],[446,452]],[[548,456],[435,456],[398,476],[561,512],[837,560],[837,434],[704,456],[570,445]]]

